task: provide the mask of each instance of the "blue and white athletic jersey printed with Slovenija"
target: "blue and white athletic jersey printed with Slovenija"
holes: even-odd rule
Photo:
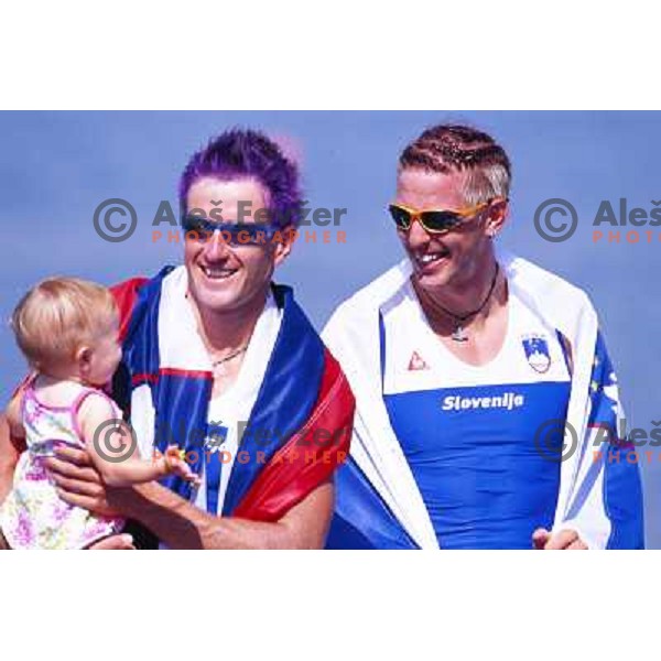
[[[508,315],[499,354],[474,367],[434,335],[410,284],[381,311],[383,400],[443,549],[530,549],[553,524],[549,446],[563,443],[568,362],[512,294]]]

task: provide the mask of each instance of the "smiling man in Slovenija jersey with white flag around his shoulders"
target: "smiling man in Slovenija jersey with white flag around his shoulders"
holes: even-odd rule
[[[621,416],[596,314],[497,252],[509,185],[502,148],[466,126],[400,156],[389,215],[408,259],[324,332],[357,402],[330,548],[643,544],[637,465],[596,442]]]

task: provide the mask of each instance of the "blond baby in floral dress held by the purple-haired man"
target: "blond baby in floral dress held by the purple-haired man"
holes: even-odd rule
[[[67,505],[44,466],[57,445],[85,447],[102,480],[129,486],[176,473],[198,484],[176,446],[143,460],[117,404],[104,393],[121,360],[118,312],[110,292],[75,278],[51,278],[19,303],[11,325],[33,368],[7,418],[28,449],[0,507],[0,529],[12,549],[85,549],[124,521]],[[122,429],[123,426],[123,429]],[[108,458],[108,448],[129,456]]]

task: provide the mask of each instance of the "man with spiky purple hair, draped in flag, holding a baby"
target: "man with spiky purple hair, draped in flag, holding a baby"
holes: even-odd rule
[[[53,478],[72,505],[120,512],[167,548],[321,548],[354,399],[292,290],[272,283],[295,240],[296,167],[262,133],[231,130],[193,155],[180,198],[184,266],[112,290],[113,395],[141,454],[176,443],[202,486],[109,488],[73,448],[50,459]],[[3,424],[0,454],[19,449]]]

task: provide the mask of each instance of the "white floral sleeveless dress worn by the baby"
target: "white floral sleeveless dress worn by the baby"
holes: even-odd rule
[[[48,407],[39,401],[33,384],[34,379],[26,386],[22,402],[28,449],[19,458],[13,489],[0,507],[0,529],[15,550],[84,549],[119,532],[124,520],[99,517],[64,502],[44,459],[53,456],[58,445],[85,446],[76,414],[89,394],[101,392],[80,386],[80,393],[72,405]],[[109,401],[120,418],[117,405]]]

